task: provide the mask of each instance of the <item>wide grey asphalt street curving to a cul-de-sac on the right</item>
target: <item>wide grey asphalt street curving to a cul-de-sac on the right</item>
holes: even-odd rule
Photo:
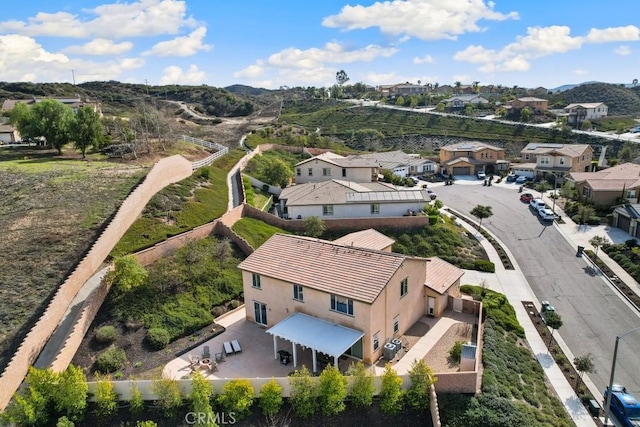
[[[492,206],[494,215],[482,225],[509,248],[538,299],[548,300],[562,316],[564,324],[556,333],[573,355],[593,355],[597,372],[589,376],[604,390],[609,384],[616,336],[640,327],[640,315],[601,277],[593,275],[586,261],[576,257],[576,248],[553,225],[539,221],[519,201],[515,184],[513,189],[481,184],[434,189],[445,205],[470,218],[476,205]],[[640,396],[640,331],[620,340],[615,382]]]

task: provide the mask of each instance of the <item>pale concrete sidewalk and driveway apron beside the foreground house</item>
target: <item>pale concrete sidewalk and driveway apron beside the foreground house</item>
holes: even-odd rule
[[[476,236],[489,256],[489,259],[496,265],[495,273],[481,273],[474,270],[465,270],[461,283],[479,285],[484,281],[489,289],[505,294],[515,309],[518,322],[524,328],[525,337],[527,338],[531,351],[540,363],[540,366],[544,370],[544,373],[558,395],[558,398],[566,408],[576,426],[595,426],[596,423],[593,418],[573,391],[571,384],[569,384],[561,369],[553,360],[553,357],[549,354],[546,344],[540,337],[535,325],[531,322],[529,313],[527,313],[525,307],[522,305],[522,301],[532,301],[536,307],[539,307],[540,302],[531,290],[529,282],[527,282],[527,279],[522,274],[522,271],[520,270],[515,257],[509,251],[509,248],[503,245],[495,235],[489,232],[505,249],[515,267],[515,270],[504,269],[502,261],[491,243],[489,243],[487,239],[484,238],[484,236],[482,236],[482,234],[480,234],[475,228],[467,224],[465,221],[458,220],[457,222]],[[558,341],[562,350],[565,351],[567,359],[572,361],[573,355],[571,355],[570,352],[569,354],[566,353],[568,347],[564,344],[562,337],[557,331],[554,334],[554,338],[556,338],[556,341]],[[587,375],[585,375],[585,379],[588,380]],[[591,387],[589,387],[589,389],[590,391],[592,390]],[[594,389],[597,391],[595,386]],[[594,396],[595,395],[598,394],[594,394]]]

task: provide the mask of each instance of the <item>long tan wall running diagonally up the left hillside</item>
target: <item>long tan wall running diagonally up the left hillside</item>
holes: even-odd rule
[[[191,172],[191,162],[184,157],[167,157],[156,163],[145,180],[126,198],[87,255],[60,285],[44,314],[27,333],[0,376],[0,384],[2,384],[0,410],[9,404],[11,397],[26,376],[29,366],[35,362],[58,327],[80,288],[98,271],[113,247],[138,218],[151,197],[163,187],[189,177]],[[75,330],[79,333],[83,328],[84,326],[79,325]],[[70,339],[72,338],[69,337],[68,340]],[[65,354],[71,351],[70,348],[65,350]]]

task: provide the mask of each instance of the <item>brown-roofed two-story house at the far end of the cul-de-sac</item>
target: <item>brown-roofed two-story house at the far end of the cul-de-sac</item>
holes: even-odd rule
[[[479,141],[459,142],[440,148],[440,168],[444,174],[496,174],[509,169],[503,148]]]

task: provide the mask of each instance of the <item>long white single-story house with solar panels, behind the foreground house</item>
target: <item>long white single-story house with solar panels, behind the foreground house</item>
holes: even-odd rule
[[[380,218],[415,215],[427,200],[426,191],[384,182],[308,182],[286,187],[279,196],[283,218]]]

